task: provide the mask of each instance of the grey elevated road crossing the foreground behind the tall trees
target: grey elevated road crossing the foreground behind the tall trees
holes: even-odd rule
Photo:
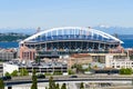
[[[57,82],[132,82],[133,77],[132,76],[79,76],[78,78],[70,78],[69,76],[57,76],[53,77],[53,80]],[[11,80],[4,81],[6,86],[14,86],[14,85],[24,85],[24,83],[31,83],[31,77],[18,77],[12,78]],[[38,79],[38,82],[49,82],[49,77],[45,79]]]

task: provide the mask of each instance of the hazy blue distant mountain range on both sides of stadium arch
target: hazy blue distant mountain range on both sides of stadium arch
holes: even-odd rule
[[[96,26],[96,27],[92,27],[92,28],[108,32],[110,34],[114,34],[114,33],[133,34],[133,28],[109,27],[109,26]],[[37,32],[37,29],[34,29],[34,28],[0,28],[0,33],[6,33],[6,32],[33,34]]]

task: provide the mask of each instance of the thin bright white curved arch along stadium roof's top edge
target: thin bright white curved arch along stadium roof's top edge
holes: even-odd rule
[[[50,31],[64,30],[64,29],[65,29],[65,30],[66,30],[66,29],[80,29],[80,30],[85,30],[85,31],[92,32],[92,36],[93,36],[93,33],[96,33],[96,34],[102,36],[103,38],[108,38],[108,39],[111,38],[111,39],[113,39],[113,40],[115,40],[115,41],[120,41],[120,43],[123,43],[123,41],[121,41],[120,39],[111,36],[111,34],[109,34],[109,33],[105,33],[105,32],[103,32],[103,31],[99,31],[99,30],[95,30],[95,29],[92,29],[92,28],[84,28],[84,27],[63,27],[63,28],[53,28],[53,29],[44,30],[44,31],[38,32],[38,33],[35,33],[35,34],[33,34],[33,36],[31,36],[31,37],[22,40],[20,43],[23,43],[23,42],[27,42],[27,41],[29,41],[29,40],[35,39],[37,37],[42,36],[42,34],[44,34],[44,33],[48,33],[48,32],[50,32]]]

